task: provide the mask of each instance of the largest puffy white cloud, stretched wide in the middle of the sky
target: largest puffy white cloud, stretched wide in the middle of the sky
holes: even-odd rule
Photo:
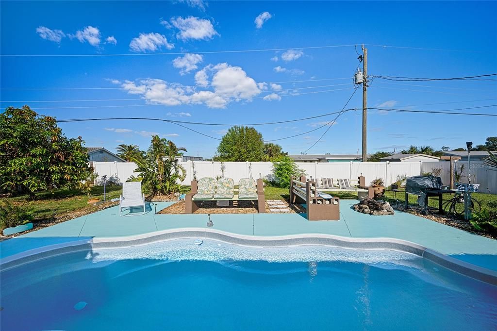
[[[251,100],[261,92],[257,83],[241,67],[233,67],[227,63],[208,65],[197,72],[195,80],[197,84],[208,85],[211,76],[212,90],[198,91],[179,83],[150,78],[136,82],[125,81],[121,86],[130,94],[140,94],[148,103],[167,106],[203,103],[209,108],[225,108],[230,102]],[[183,116],[188,116],[185,114],[187,113],[183,113]]]

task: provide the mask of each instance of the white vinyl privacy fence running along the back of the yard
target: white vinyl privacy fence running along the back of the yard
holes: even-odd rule
[[[186,169],[186,178],[183,180],[184,185],[189,185],[193,179],[193,173],[197,179],[202,177],[222,176],[221,162],[211,161],[186,161],[181,162]],[[307,177],[313,178],[349,178],[356,179],[358,176],[366,177],[368,184],[375,178],[383,178],[385,185],[390,185],[397,180],[397,176],[406,175],[417,176],[423,172],[431,172],[441,168],[442,182],[449,185],[450,162],[314,162],[314,163],[297,163],[303,169]],[[467,163],[456,162],[456,169],[463,169],[463,178],[461,182],[467,180]],[[259,178],[267,177],[272,172],[272,163],[270,162],[225,162],[224,176],[233,178],[238,182],[240,178]],[[138,175],[134,172],[136,164],[133,162],[93,162],[95,172],[98,173],[97,182],[101,182],[101,176],[107,175],[107,180],[121,184],[130,176]],[[480,191],[484,193],[497,194],[497,171],[485,165],[483,161],[471,163],[471,181],[480,184]]]

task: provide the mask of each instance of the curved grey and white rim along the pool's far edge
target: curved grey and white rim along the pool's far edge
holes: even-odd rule
[[[93,238],[26,250],[0,259],[1,270],[69,252],[143,246],[174,239],[212,239],[248,247],[323,245],[339,248],[390,249],[415,254],[465,276],[497,285],[497,271],[442,254],[434,249],[395,238],[351,238],[328,234],[298,234],[274,237],[239,235],[216,229],[178,228],[126,237]]]

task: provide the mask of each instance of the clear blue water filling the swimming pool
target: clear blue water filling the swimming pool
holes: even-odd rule
[[[0,276],[2,331],[497,328],[497,287],[398,251],[175,240]]]

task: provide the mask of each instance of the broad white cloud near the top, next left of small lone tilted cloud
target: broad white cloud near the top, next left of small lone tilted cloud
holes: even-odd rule
[[[172,26],[179,30],[176,36],[181,40],[195,39],[208,40],[212,39],[218,33],[214,29],[211,21],[199,17],[174,17],[170,20]],[[166,21],[161,22],[164,25]]]

